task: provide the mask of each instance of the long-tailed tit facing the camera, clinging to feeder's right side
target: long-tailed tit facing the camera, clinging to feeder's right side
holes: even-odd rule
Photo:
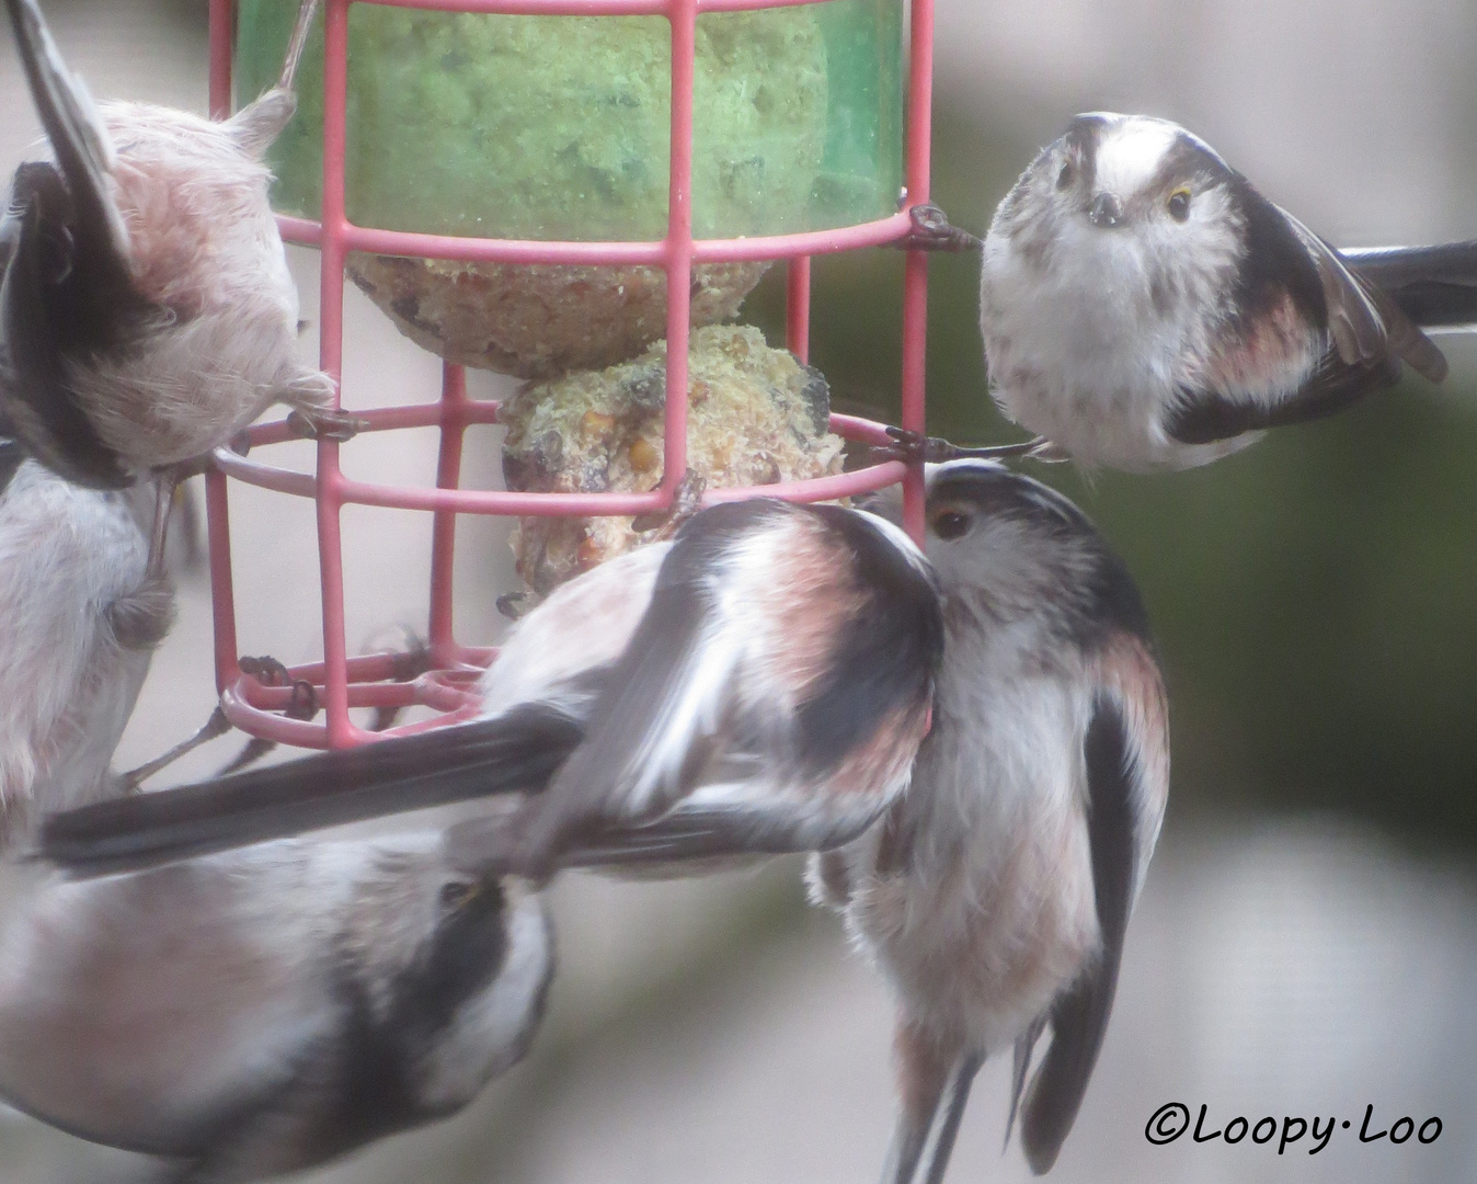
[[[1464,262],[1446,262],[1471,272],[1464,245]],[[954,449],[902,436],[901,451],[1192,469],[1390,386],[1402,364],[1440,381],[1442,352],[1381,287],[1400,266],[1351,268],[1177,124],[1078,115],[1000,203],[984,245],[991,389],[1037,439]]]

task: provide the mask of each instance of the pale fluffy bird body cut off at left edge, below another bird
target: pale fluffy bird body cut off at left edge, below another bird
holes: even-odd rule
[[[152,494],[84,489],[0,440],[0,847],[114,791],[109,761],[174,616]]]

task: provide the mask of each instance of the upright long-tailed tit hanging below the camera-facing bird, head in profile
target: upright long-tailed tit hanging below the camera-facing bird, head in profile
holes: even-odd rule
[[[898,999],[885,1184],[939,1184],[970,1081],[1012,1045],[1027,1159],[1056,1160],[1170,773],[1143,605],[1075,506],[956,461],[929,476],[925,548],[945,628],[933,730],[882,822],[811,865],[812,893],[845,912]]]

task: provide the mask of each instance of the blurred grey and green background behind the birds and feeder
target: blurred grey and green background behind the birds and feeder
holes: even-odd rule
[[[1450,0],[936,0],[935,198],[982,231],[1034,149],[1080,109],[1139,109],[1214,143],[1338,244],[1477,237],[1477,9]],[[204,109],[204,0],[47,0],[102,96]],[[37,135],[0,40],[0,169]],[[316,256],[294,251],[313,316]],[[815,266],[812,361],[840,401],[892,414],[901,260]],[[1013,439],[984,398],[976,269],[932,265],[931,427]],[[353,290],[346,399],[431,399],[439,365]],[[783,279],[746,318],[778,341]],[[1053,1177],[1062,1181],[1447,1181],[1477,1174],[1477,353],[1453,374],[1211,469],[1059,482],[1128,559],[1155,621],[1174,720],[1174,792],[1130,930],[1103,1060]],[[310,350],[312,343],[306,341]],[[474,375],[493,398],[499,380]],[[474,433],[467,480],[496,482]],[[278,455],[292,460],[289,451]],[[300,454],[304,464],[309,457]],[[425,482],[434,439],[366,438],[356,474]],[[241,649],[318,656],[310,508],[232,494]],[[424,517],[346,516],[350,644],[424,627]],[[504,528],[461,529],[458,612],[496,637],[513,587]],[[180,576],[120,764],[211,707],[208,590]],[[210,770],[219,741],[176,776]],[[338,1184],[665,1184],[871,1180],[891,1120],[889,1004],[808,912],[796,866],[702,884],[569,878],[561,976],[533,1055],[467,1113],[313,1180]],[[951,1180],[1028,1177],[1001,1154],[1007,1073],[988,1066]],[[1350,1119],[1328,1147],[1168,1147],[1149,1116],[1208,1106]],[[1427,1147],[1360,1144],[1440,1116]],[[3,1184],[131,1180],[140,1165],[0,1119]]]

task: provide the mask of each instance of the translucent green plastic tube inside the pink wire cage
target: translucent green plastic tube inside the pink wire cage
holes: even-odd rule
[[[297,0],[241,0],[236,99],[281,69]],[[272,151],[282,213],[322,189],[322,21]],[[697,21],[699,238],[821,231],[895,213],[902,0]],[[666,232],[669,30],[650,16],[487,16],[354,4],[346,205],[360,226],[529,239]]]

